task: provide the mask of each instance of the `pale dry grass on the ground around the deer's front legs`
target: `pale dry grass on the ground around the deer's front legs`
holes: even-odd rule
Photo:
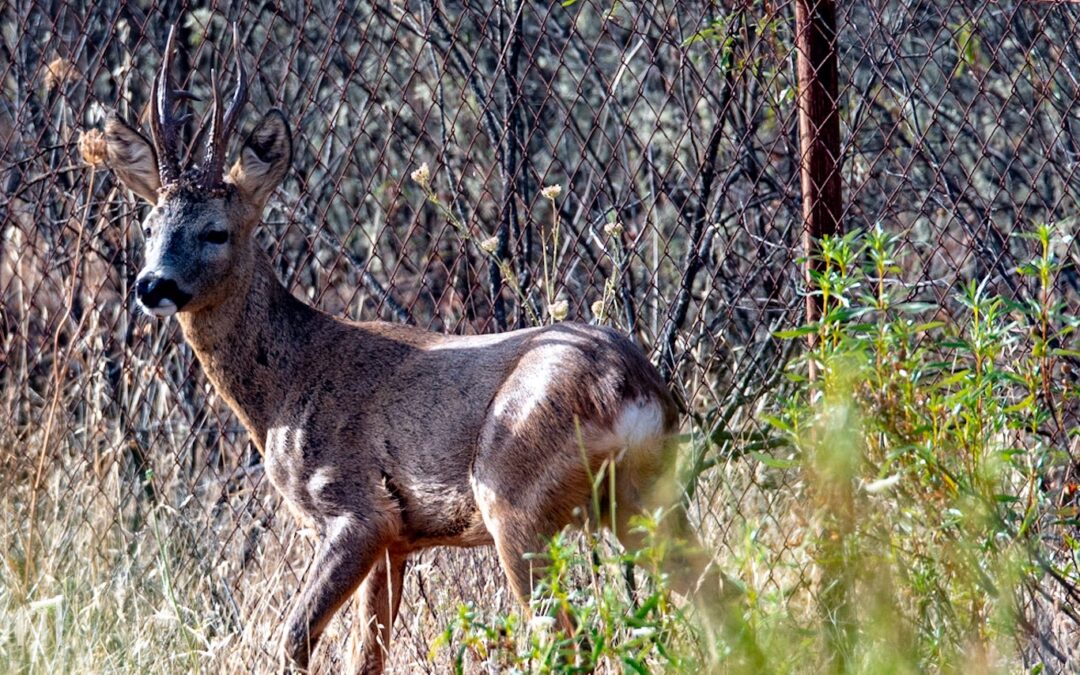
[[[124,500],[131,484],[118,467],[94,482],[80,475],[84,465],[50,468],[39,488],[32,562],[25,557],[28,485],[4,492],[0,671],[271,670],[281,619],[314,553],[311,534],[297,529],[258,473],[234,481],[227,501],[218,489],[177,489],[151,507]],[[162,487],[157,481],[171,491]],[[492,550],[418,555],[389,672],[445,672],[450,652],[440,636],[467,603],[485,616],[521,616]],[[355,647],[354,609],[339,612],[316,652],[330,672]]]

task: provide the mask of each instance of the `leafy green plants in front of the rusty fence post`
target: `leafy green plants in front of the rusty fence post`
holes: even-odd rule
[[[650,536],[637,552],[555,539],[534,599],[540,619],[463,610],[442,640],[457,646],[459,669],[468,652],[530,673],[1015,670],[1032,639],[1024,598],[1080,581],[1075,564],[1051,562],[1076,559],[1059,528],[1076,526],[1077,510],[1048,483],[1068,457],[1062,420],[1077,391],[1061,360],[1076,355],[1065,347],[1076,320],[1053,297],[1053,230],[1025,237],[1039,252],[1018,269],[1036,285],[1023,303],[987,282],[905,295],[899,241],[881,229],[821,242],[809,292],[822,318],[781,334],[816,339],[788,364],[788,393],[766,416],[771,435],[745,453],[731,433],[684,437],[693,468],[716,467],[702,457],[723,441],[783,472],[799,496],[798,534],[782,554],[769,524],[747,522],[718,556],[733,591],[725,630],[702,630],[690,604],[670,598],[663,561],[678,542],[657,537],[653,519],[640,524]],[[785,559],[802,566],[793,582]],[[631,561],[654,570],[636,589],[621,576]],[[552,634],[555,609],[575,619],[575,635]]]

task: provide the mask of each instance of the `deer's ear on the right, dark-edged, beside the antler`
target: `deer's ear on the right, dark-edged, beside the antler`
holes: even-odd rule
[[[229,170],[229,177],[241,194],[261,212],[292,161],[293,136],[288,132],[288,121],[285,113],[273,108],[247,135],[240,159]]]

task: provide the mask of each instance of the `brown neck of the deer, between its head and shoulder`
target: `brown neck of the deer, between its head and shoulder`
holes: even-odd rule
[[[253,257],[246,288],[178,319],[210,381],[261,451],[288,383],[302,367],[299,348],[322,314],[278,281],[265,253],[256,249]]]

